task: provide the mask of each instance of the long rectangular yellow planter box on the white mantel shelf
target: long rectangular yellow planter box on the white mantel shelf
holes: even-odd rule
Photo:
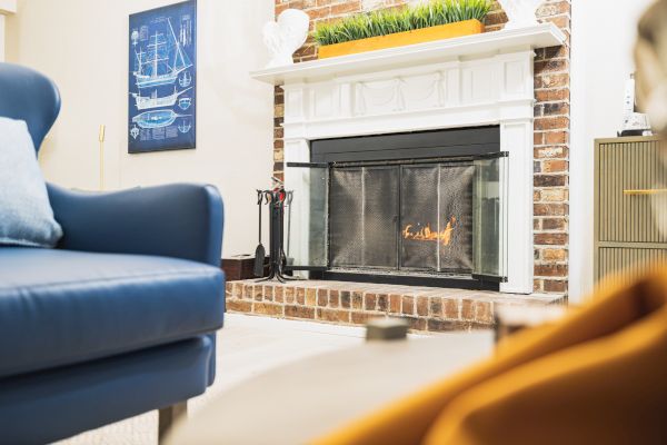
[[[326,44],[320,47],[318,57],[320,59],[328,59],[330,57],[356,55],[359,52],[377,51],[379,49],[395,47],[405,47],[407,44],[451,39],[454,37],[479,34],[481,32],[484,32],[484,23],[481,23],[479,20],[466,20],[456,23],[416,29],[414,31],[371,37],[369,39]]]

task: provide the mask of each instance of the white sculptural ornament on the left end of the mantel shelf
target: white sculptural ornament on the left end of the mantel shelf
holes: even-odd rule
[[[263,27],[263,41],[271,61],[267,68],[292,65],[292,55],[308,38],[310,17],[298,9],[286,9],[278,16],[278,21],[269,21]]]

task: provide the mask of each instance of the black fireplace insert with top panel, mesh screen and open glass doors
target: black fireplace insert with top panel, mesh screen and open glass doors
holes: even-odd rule
[[[311,277],[498,289],[507,154],[498,127],[311,141],[308,225],[288,215],[288,267]],[[306,231],[306,233],[305,233]],[[308,237],[307,251],[291,246]],[[303,255],[306,254],[306,255]]]

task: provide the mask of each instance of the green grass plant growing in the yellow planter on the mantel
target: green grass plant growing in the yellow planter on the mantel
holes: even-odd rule
[[[312,37],[320,44],[335,44],[396,32],[477,19],[484,21],[491,0],[429,0],[426,3],[356,14],[322,23]]]

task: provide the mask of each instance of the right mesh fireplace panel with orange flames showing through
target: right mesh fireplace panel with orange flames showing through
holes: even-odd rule
[[[405,166],[401,177],[401,268],[470,274],[475,167]]]

